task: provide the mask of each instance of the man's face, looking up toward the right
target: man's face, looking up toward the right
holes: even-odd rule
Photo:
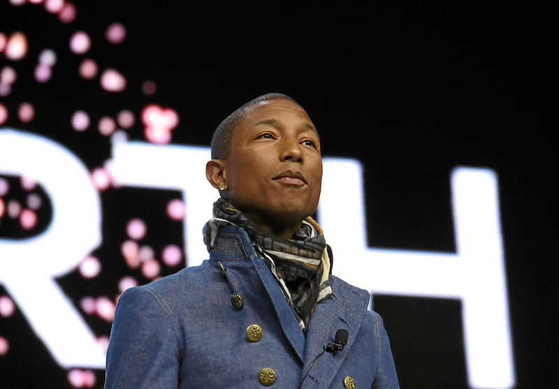
[[[256,224],[280,230],[317,209],[322,160],[307,112],[287,100],[250,108],[225,161],[228,201]]]

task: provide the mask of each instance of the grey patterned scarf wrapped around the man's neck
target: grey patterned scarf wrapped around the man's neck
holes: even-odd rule
[[[318,223],[307,217],[293,239],[287,240],[254,226],[223,198],[214,203],[213,216],[206,224],[205,244],[213,248],[223,226],[235,224],[243,228],[256,253],[277,279],[300,328],[306,332],[314,305],[332,294],[328,283],[331,260]]]

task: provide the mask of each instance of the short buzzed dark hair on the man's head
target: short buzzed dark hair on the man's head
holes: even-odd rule
[[[270,100],[287,100],[292,103],[296,103],[303,108],[297,101],[293,100],[293,98],[281,93],[268,93],[253,98],[251,101],[243,104],[240,108],[231,113],[231,115],[226,117],[226,119],[217,126],[217,129],[212,137],[212,159],[228,158],[231,153],[231,138],[233,138],[233,132],[235,132],[235,129],[237,129],[237,126],[240,124],[242,119],[245,118],[248,110],[254,105]]]

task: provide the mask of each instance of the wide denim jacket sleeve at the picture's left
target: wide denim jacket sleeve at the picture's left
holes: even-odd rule
[[[135,287],[119,298],[106,361],[106,389],[177,389],[180,353],[165,300]]]

